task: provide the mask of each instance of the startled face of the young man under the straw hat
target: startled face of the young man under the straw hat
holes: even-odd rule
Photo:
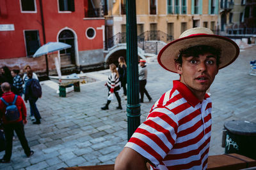
[[[182,65],[176,64],[180,81],[184,83],[193,94],[202,94],[211,86],[218,66],[216,56],[212,53],[204,53],[199,56],[182,57]]]

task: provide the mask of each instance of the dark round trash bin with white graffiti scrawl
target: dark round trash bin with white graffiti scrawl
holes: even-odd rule
[[[232,120],[225,122],[225,153],[238,153],[256,160],[256,124]]]

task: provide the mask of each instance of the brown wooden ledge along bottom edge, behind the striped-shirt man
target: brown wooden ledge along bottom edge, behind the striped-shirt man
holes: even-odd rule
[[[102,166],[80,166],[80,167],[62,167],[59,170],[113,170],[114,164]],[[209,170],[236,170],[248,167],[255,167],[256,160],[244,157],[237,153],[230,153],[225,155],[212,155],[208,157]]]

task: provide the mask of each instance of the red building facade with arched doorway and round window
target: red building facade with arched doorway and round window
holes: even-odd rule
[[[88,17],[88,0],[0,0],[0,67],[55,69],[54,55],[33,58],[49,41],[72,48],[60,51],[61,67],[104,62],[104,18]]]

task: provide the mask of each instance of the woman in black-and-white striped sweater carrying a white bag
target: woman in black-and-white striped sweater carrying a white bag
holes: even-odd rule
[[[109,69],[111,71],[111,74],[108,76],[108,82],[105,83],[105,86],[108,87],[108,101],[105,104],[105,106],[102,107],[101,109],[108,110],[108,105],[111,103],[111,99],[109,98],[115,94],[116,99],[118,101],[118,106],[116,107],[116,109],[122,110],[121,99],[118,94],[118,91],[120,90],[119,74],[118,74],[118,71],[116,70],[115,64],[110,64]]]

